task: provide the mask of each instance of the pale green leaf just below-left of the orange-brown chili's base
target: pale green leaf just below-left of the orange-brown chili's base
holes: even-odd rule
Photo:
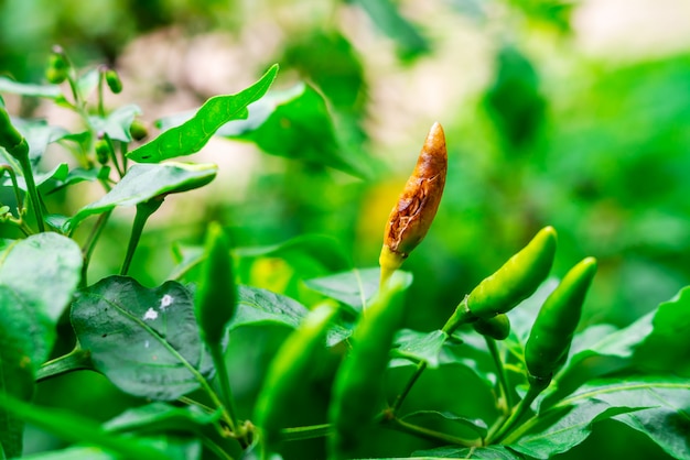
[[[319,278],[305,280],[304,284],[312,291],[334,298],[353,309],[362,311],[363,305],[378,292],[380,270],[353,269]]]

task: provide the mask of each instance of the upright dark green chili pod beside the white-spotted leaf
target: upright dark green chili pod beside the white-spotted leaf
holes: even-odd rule
[[[225,327],[237,308],[230,243],[218,222],[208,226],[205,253],[194,313],[202,337],[211,346],[220,343]]]

